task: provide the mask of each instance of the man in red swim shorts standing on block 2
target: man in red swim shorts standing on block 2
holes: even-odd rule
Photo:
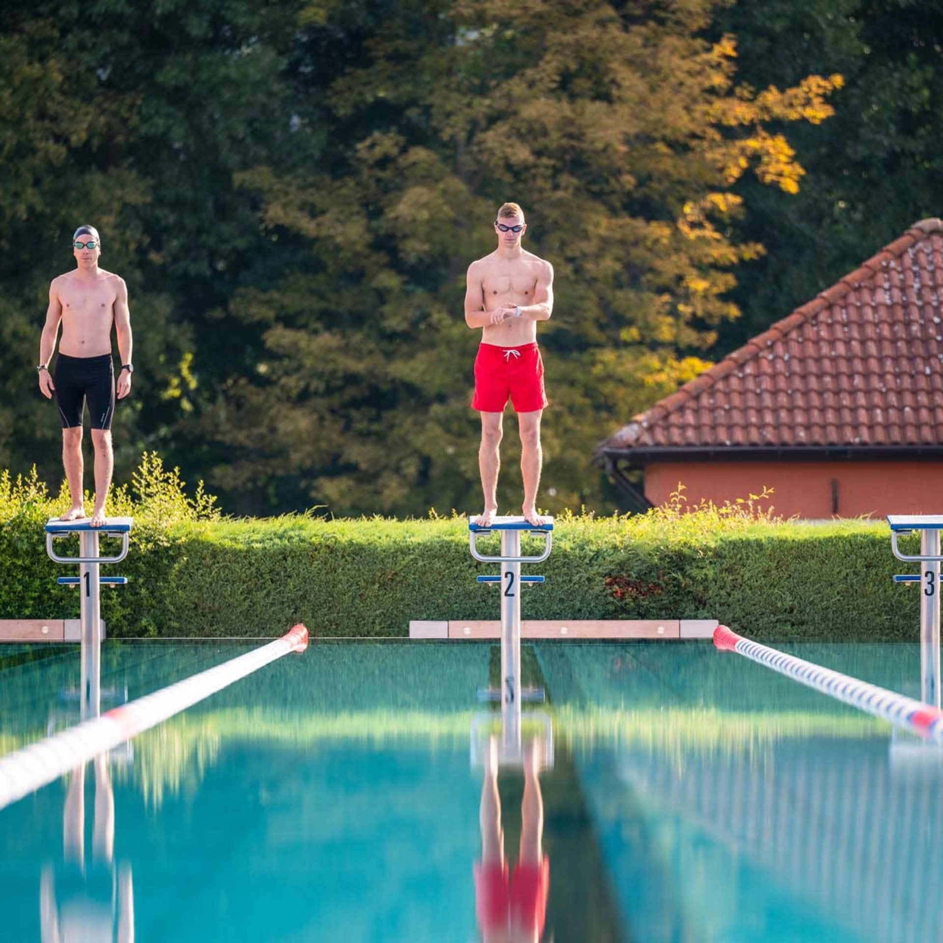
[[[498,247],[472,262],[467,276],[465,323],[482,329],[472,400],[472,409],[481,413],[478,468],[485,510],[477,521],[482,525],[498,513],[499,450],[508,399],[521,433],[521,512],[532,524],[545,522],[537,512],[537,491],[543,463],[540,418],[548,404],[537,323],[547,321],[554,310],[554,267],[521,247],[526,231],[524,211],[516,203],[505,203],[494,222]]]

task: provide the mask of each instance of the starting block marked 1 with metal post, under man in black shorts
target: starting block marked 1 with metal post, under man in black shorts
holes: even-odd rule
[[[88,518],[78,521],[59,521],[58,518],[52,518],[46,521],[46,553],[49,558],[56,563],[78,564],[77,579],[74,576],[60,577],[58,583],[65,586],[77,585],[80,589],[82,720],[98,717],[101,713],[102,614],[99,590],[102,584],[121,586],[127,582],[124,576],[102,578],[99,567],[103,563],[121,563],[124,560],[133,523],[133,518],[108,518],[101,527],[92,527]],[[59,556],[54,541],[73,534],[78,535],[78,556]],[[98,538],[103,535],[121,538],[122,547],[117,555],[100,554]]]

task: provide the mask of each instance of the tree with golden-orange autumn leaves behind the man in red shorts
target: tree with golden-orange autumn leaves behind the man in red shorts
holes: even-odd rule
[[[702,38],[718,6],[310,4],[309,45],[349,53],[317,119],[323,160],[239,175],[269,237],[310,255],[229,306],[265,354],[202,422],[231,450],[216,483],[338,512],[476,506],[464,273],[515,199],[556,270],[541,501],[598,505],[593,445],[702,370],[736,318],[732,270],[762,251],[733,238],[737,181],[798,190],[775,126],[821,122],[840,84],[738,86],[735,41]],[[506,461],[502,482],[510,505]]]

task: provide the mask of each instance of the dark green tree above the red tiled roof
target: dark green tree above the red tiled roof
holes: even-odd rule
[[[721,12],[736,28],[738,73],[754,85],[787,85],[809,69],[838,72],[825,133],[790,137],[807,174],[795,199],[744,180],[743,240],[766,256],[741,266],[732,298],[744,312],[720,337],[725,353],[852,272],[913,223],[939,215],[943,119],[939,69],[943,8],[916,0],[774,0]]]

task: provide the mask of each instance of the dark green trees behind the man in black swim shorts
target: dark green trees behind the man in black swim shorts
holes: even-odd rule
[[[265,285],[279,247],[233,174],[290,169],[317,136],[292,124],[300,3],[69,0],[8,12],[0,39],[0,256],[5,341],[0,465],[61,474],[55,410],[35,372],[50,279],[77,223],[128,283],[137,370],[116,418],[116,476],[159,448],[193,477],[214,459],[188,420],[257,340],[225,306]],[[237,330],[237,328],[239,330]],[[15,419],[15,422],[14,422]],[[6,420],[6,422],[5,422]]]

